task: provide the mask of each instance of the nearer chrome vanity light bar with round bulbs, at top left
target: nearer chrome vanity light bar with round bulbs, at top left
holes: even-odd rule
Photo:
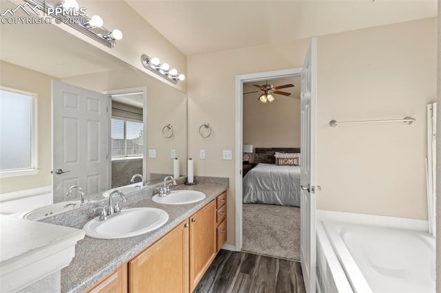
[[[70,15],[65,15],[63,12],[51,13],[56,8],[63,8],[63,4],[68,1],[41,1],[41,0],[24,0],[27,3],[32,4],[36,8],[44,11],[47,15],[54,17],[56,23],[65,23],[71,28],[74,28],[78,32],[89,36],[91,39],[98,41],[99,43],[107,46],[114,47],[116,45],[116,40],[121,40],[123,38],[123,33],[120,30],[107,30],[103,28],[103,20],[101,17],[94,15],[88,17],[87,15],[72,17]],[[76,0],[69,0],[70,5],[72,2],[78,6]]]

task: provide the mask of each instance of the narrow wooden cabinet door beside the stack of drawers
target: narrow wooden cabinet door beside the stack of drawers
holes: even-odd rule
[[[216,257],[216,200],[190,217],[190,292]]]

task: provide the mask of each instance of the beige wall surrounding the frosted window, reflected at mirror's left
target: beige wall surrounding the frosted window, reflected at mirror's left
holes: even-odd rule
[[[0,85],[36,93],[38,169],[36,175],[0,178],[0,193],[52,184],[50,80],[52,76],[0,61]],[[24,179],[24,180],[23,180]]]

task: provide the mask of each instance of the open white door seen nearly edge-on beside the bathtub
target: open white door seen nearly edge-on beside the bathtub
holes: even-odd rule
[[[300,95],[300,262],[306,292],[316,292],[316,38],[302,67]]]

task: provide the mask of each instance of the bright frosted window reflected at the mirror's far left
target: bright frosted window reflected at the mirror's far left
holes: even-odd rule
[[[0,89],[0,172],[34,170],[35,94]],[[35,155],[36,156],[36,155]],[[17,174],[18,175],[18,174]]]

